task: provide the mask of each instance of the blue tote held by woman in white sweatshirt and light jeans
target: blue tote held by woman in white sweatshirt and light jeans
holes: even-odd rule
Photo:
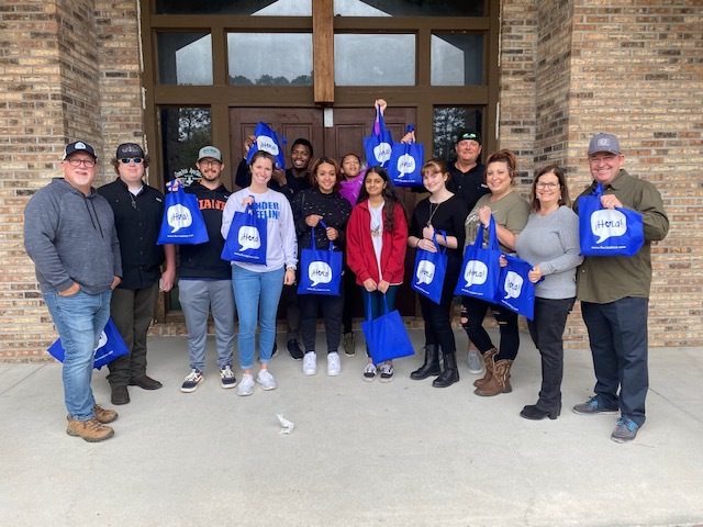
[[[226,261],[266,265],[267,220],[257,214],[256,202],[235,212],[220,257]]]

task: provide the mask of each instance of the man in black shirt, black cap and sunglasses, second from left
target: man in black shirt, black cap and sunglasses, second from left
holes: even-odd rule
[[[120,239],[123,276],[112,292],[110,312],[130,352],[108,365],[108,382],[112,404],[126,404],[127,385],[144,390],[161,388],[160,382],[146,374],[146,334],[154,318],[159,278],[163,291],[174,285],[176,249],[172,245],[156,245],[164,216],[164,194],[144,182],[149,158],[142,147],[122,143],[112,166],[118,178],[98,192],[112,208]],[[164,262],[166,269],[161,274]]]

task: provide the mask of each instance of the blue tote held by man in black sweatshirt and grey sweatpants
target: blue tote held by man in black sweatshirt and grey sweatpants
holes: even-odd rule
[[[198,199],[183,190],[182,184],[175,179],[166,184],[164,199],[164,218],[158,234],[157,245],[196,245],[204,244],[208,227],[202,218]]]

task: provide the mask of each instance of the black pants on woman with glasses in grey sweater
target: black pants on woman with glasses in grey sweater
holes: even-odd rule
[[[542,388],[537,407],[545,412],[561,408],[563,377],[563,328],[576,299],[535,299],[535,315],[527,321],[529,335],[542,358]]]

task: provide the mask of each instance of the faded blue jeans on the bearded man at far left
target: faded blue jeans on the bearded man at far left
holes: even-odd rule
[[[112,291],[71,296],[44,293],[44,301],[64,346],[64,401],[68,415],[87,421],[94,417],[90,381],[92,363],[100,334],[110,318]]]

